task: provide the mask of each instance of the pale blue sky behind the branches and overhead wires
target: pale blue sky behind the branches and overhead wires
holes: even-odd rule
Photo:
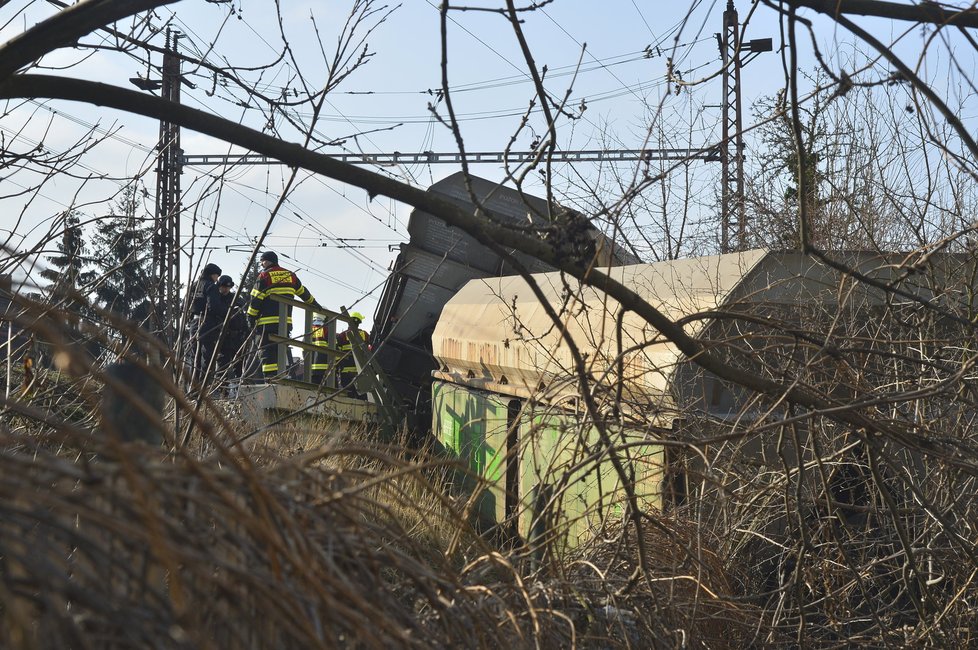
[[[313,87],[322,85],[353,4],[348,0],[283,2],[281,24],[294,60],[260,72],[245,70],[242,76],[268,95],[287,96],[297,88],[297,69]],[[511,26],[499,13],[480,10],[502,4],[469,2],[466,10],[450,14],[447,75],[469,151],[498,151],[510,141],[513,149],[525,150],[545,134],[539,110],[530,112],[521,128],[534,95]],[[717,142],[722,88],[715,34],[721,28],[724,4],[557,0],[525,12],[522,28],[537,68],[546,66],[548,91],[566,96],[568,113],[573,116],[560,121],[560,148],[636,149],[650,134],[651,146],[659,142],[698,147]],[[746,2],[738,5],[741,20],[747,20],[750,6]],[[355,41],[348,49],[351,56],[361,51],[369,54],[364,65],[326,97],[316,130],[332,144],[321,150],[456,151],[452,133],[430,110],[433,106],[439,115],[445,115],[445,102],[438,93],[442,74],[438,3],[406,0],[399,5],[371,6],[374,12],[357,32],[363,41]],[[156,45],[163,44],[166,27],[179,30],[182,53],[215,65],[251,68],[274,61],[280,51],[273,9],[274,4],[267,0],[184,1],[156,10],[141,19],[138,28]],[[0,9],[0,24],[5,25],[0,37],[5,40],[52,11],[48,3],[9,3]],[[861,55],[852,47],[852,40],[834,25],[817,19],[815,24],[816,42],[826,58],[840,67],[855,65]],[[863,24],[884,40],[899,36],[889,23]],[[367,28],[372,31],[367,33]],[[773,37],[777,48],[779,30],[777,15],[761,7],[749,14],[744,38]],[[911,34],[906,38],[910,41],[906,47],[913,51],[922,37]],[[100,33],[83,42],[105,44],[109,40]],[[803,42],[802,47],[799,56],[807,57],[814,66],[811,45]],[[666,81],[670,58],[690,85],[680,88]],[[160,61],[154,54],[147,64],[146,53],[136,50],[92,53],[66,49],[43,63],[50,68],[43,72],[81,75],[132,88],[131,77],[157,75],[153,66]],[[942,65],[946,62],[934,61],[932,67]],[[269,124],[255,106],[239,103],[243,95],[216,84],[206,70],[184,65],[182,72],[187,81],[182,91],[185,104],[255,128],[277,128],[286,139],[298,137],[281,119]],[[759,98],[773,95],[783,85],[781,53],[761,54],[745,66],[745,118]],[[301,107],[295,117],[309,120],[311,109]],[[105,214],[106,198],[132,179],[137,179],[141,193],[145,190],[146,207],[152,212],[155,122],[47,101],[8,106],[0,129],[11,150],[28,150],[43,142],[51,151],[65,151],[90,129],[110,134],[80,156],[79,164],[82,174],[106,175],[111,180],[81,184],[73,178],[59,179],[27,200],[19,190],[31,186],[29,178],[8,175],[3,179],[5,191],[0,201],[8,216],[0,220],[0,240],[7,237],[8,246],[29,248],[66,209],[80,210],[92,218]],[[188,130],[182,133],[182,146],[188,155],[233,151]],[[414,165],[376,171],[427,187],[458,168]],[[477,165],[472,171],[492,180],[503,176],[495,165]],[[682,171],[699,188],[693,193],[698,227],[715,237],[719,168],[715,163],[696,161]],[[181,179],[185,281],[207,262],[217,263],[236,281],[242,277],[254,238],[279,202],[288,176],[289,170],[279,165],[185,168]],[[600,186],[610,176],[609,170],[588,163],[563,165],[555,170],[554,180],[562,202],[586,211],[593,199],[581,188]],[[369,327],[397,246],[407,241],[410,210],[305,172],[299,172],[296,181],[271,224],[263,249],[277,251],[283,265],[298,273],[321,304],[360,311],[367,315]]]

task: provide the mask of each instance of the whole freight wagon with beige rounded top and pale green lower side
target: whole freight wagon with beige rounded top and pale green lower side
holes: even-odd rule
[[[855,274],[801,253],[767,250],[606,271],[730,365],[797,376],[830,394],[850,387],[826,356],[840,340],[905,327],[896,321],[919,316],[923,302],[951,313],[969,300],[950,289],[957,286],[951,278],[974,277],[967,256],[932,255],[922,262],[926,269],[908,269],[900,255],[834,257]],[[662,509],[692,495],[735,493],[739,479],[726,478],[720,463],[708,482],[701,480],[702,466],[714,460],[708,445],[696,443],[680,462],[683,450],[711,433],[781,417],[781,406],[706,373],[602,292],[559,272],[532,279],[556,322],[522,277],[478,279],[445,305],[432,336],[433,433],[485,479],[483,518],[516,524],[524,536],[562,529],[573,544],[608,516],[620,516],[629,501]],[[905,303],[906,313],[895,303]],[[923,321],[918,325],[920,338]],[[931,326],[932,334],[947,334],[929,335],[936,345],[958,340],[949,333],[953,326]],[[888,339],[873,340],[883,343],[867,356],[860,381],[887,385],[895,371],[882,349]],[[782,443],[775,450],[745,435],[718,446],[736,462],[746,459],[749,471],[812,456],[804,435],[797,444]],[[694,464],[699,470],[690,472]]]

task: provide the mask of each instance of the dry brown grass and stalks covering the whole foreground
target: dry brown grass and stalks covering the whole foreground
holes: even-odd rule
[[[132,386],[114,385],[101,364],[57,343],[57,319],[30,322],[68,362],[61,372],[39,364],[35,383],[0,410],[0,647],[893,647],[970,639],[969,500],[941,511],[957,517],[957,528],[909,498],[897,518],[883,503],[868,504],[871,517],[847,506],[843,527],[844,512],[822,511],[824,496],[795,501],[807,493],[787,471],[731,466],[740,478],[716,510],[722,516],[708,518],[705,502],[682,516],[643,513],[639,531],[608,522],[573,551],[541,553],[477,535],[473,501],[447,485],[457,468],[428,450],[381,446],[370,430],[325,421],[285,421],[252,435],[233,404],[195,400],[145,362],[159,352],[125,330],[129,343],[113,349],[161,387],[160,417],[144,408],[154,401],[145,391],[126,392]],[[105,417],[118,408],[105,399],[112,390],[123,398],[122,422]],[[139,441],[154,431],[162,443]],[[973,492],[970,476],[934,473],[931,482],[934,494]],[[789,525],[798,519],[804,547]],[[908,610],[891,519],[929,540],[915,552],[943,576],[927,585],[926,616]],[[764,566],[769,556],[776,570]],[[768,584],[772,576],[780,582]]]

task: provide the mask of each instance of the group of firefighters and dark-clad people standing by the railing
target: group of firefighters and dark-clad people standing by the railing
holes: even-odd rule
[[[262,253],[258,263],[261,272],[251,290],[251,302],[247,308],[242,298],[235,299],[232,291],[234,280],[230,276],[221,275],[221,268],[216,264],[207,264],[204,267],[191,301],[191,313],[197,323],[195,378],[203,383],[205,378],[214,376],[216,372],[227,382],[228,397],[237,395],[244,369],[243,348],[252,330],[259,339],[261,374],[265,379],[280,377],[281,371],[286,370],[279,368],[278,344],[272,341],[272,336],[279,333],[279,303],[270,300],[269,296],[292,298],[309,305],[314,311],[312,342],[324,348],[329,345],[322,315],[315,313],[317,310],[326,310],[302,285],[299,276],[279,266],[278,255],[273,251]],[[359,329],[363,315],[353,312],[350,319],[353,321],[350,328],[336,338],[337,349],[344,353],[338,373],[339,386],[350,395],[362,397],[354,387],[358,371],[350,338],[359,336],[364,344],[368,343],[368,339],[367,333]],[[291,305],[287,307],[286,324],[291,332]],[[291,354],[287,356],[291,358]],[[323,384],[329,367],[327,354],[316,353],[311,368],[312,382]]]

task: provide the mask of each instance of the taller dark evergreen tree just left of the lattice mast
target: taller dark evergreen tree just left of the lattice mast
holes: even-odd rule
[[[102,280],[95,292],[104,308],[142,323],[153,311],[153,220],[139,207],[128,188],[99,223],[95,263]]]

